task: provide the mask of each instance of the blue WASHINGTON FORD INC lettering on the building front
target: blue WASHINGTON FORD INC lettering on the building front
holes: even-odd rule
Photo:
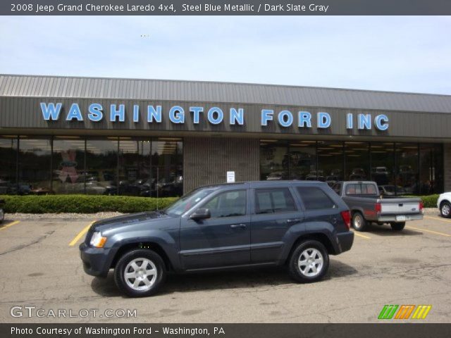
[[[63,104],[41,102],[42,118],[46,121],[57,121],[61,118]],[[89,104],[87,111],[83,112],[79,104],[71,104],[63,118],[70,121],[84,121],[85,118],[92,122],[100,122],[108,119],[112,123],[125,122],[125,117],[132,118],[134,123],[140,123],[142,119],[140,109],[137,104],[133,105],[132,111],[125,111],[124,104],[111,104],[109,111],[106,111],[101,104]],[[192,119],[192,123],[199,124],[201,120],[206,120],[211,125],[229,123],[230,125],[245,125],[244,108],[230,108],[228,120],[224,118],[224,111],[216,106],[202,107],[192,106],[183,108],[182,106],[172,106],[168,111],[164,111],[162,106],[147,106],[147,123],[161,123],[163,118],[168,118],[171,123],[184,124],[187,118]],[[295,120],[296,119],[296,120]],[[260,125],[265,127],[270,123],[278,123],[281,127],[291,127],[293,124],[297,127],[311,128],[312,120],[316,122],[316,127],[325,129],[330,127],[332,118],[329,113],[319,112],[316,117],[308,111],[274,111],[273,109],[261,109]],[[376,115],[374,118],[368,113],[359,113],[354,116],[352,113],[346,114],[346,128],[353,129],[354,123],[359,130],[371,130],[374,127],[377,130],[388,130],[388,116],[384,114]]]

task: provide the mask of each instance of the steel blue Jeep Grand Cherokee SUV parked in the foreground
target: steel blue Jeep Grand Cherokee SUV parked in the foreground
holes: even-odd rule
[[[129,296],[154,294],[166,273],[287,265],[315,282],[328,255],[351,249],[350,211],[322,182],[245,182],[200,187],[163,211],[100,220],[80,253],[85,272],[111,268]]]

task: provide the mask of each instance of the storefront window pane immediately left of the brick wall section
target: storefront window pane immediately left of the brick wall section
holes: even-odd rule
[[[152,141],[153,193],[158,196],[183,195],[183,143],[181,139],[161,137]]]

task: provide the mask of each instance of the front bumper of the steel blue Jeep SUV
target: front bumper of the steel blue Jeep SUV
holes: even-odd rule
[[[85,273],[97,277],[106,277],[108,275],[111,265],[109,249],[92,248],[85,243],[80,244],[79,249]]]

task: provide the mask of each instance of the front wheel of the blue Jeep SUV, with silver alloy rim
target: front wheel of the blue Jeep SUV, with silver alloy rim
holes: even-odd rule
[[[135,263],[135,265],[133,265]],[[143,270],[142,264],[146,264]],[[146,274],[153,271],[153,274]],[[125,277],[125,273],[135,277]],[[138,280],[138,282],[136,282]],[[145,282],[147,280],[147,282]],[[166,268],[158,253],[137,249],[125,253],[114,269],[114,281],[118,289],[131,297],[152,296],[166,280]],[[135,284],[136,282],[136,284]]]

